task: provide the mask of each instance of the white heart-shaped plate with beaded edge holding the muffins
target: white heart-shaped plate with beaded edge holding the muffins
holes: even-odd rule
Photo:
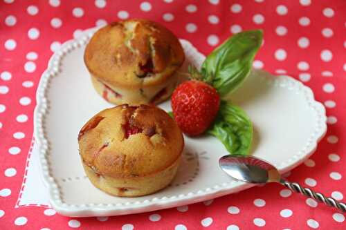
[[[140,198],[116,198],[96,189],[86,178],[78,155],[78,131],[95,113],[110,107],[93,89],[84,62],[86,42],[95,28],[67,41],[55,52],[37,89],[35,137],[50,202],[62,215],[123,215],[177,207],[252,185],[231,180],[219,169],[228,154],[214,137],[185,137],[183,161],[172,184]],[[204,56],[190,42],[181,40],[186,64],[200,66]],[[244,108],[254,127],[253,155],[271,162],[282,173],[313,153],[326,132],[325,108],[312,91],[291,77],[273,77],[253,71],[232,95]],[[170,102],[160,105],[170,111]]]

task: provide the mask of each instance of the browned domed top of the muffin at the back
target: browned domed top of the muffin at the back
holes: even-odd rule
[[[86,46],[84,62],[104,84],[126,88],[161,84],[185,55],[167,28],[145,19],[117,21],[100,28]]]

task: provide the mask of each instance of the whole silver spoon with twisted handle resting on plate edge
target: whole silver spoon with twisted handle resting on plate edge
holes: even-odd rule
[[[245,155],[224,155],[219,160],[221,169],[235,180],[251,184],[266,184],[268,182],[277,182],[295,193],[312,198],[318,202],[323,202],[330,207],[335,207],[339,211],[346,211],[346,204],[338,202],[334,198],[328,198],[322,193],[316,193],[309,188],[304,188],[295,182],[284,180],[279,171],[264,160],[257,157]]]

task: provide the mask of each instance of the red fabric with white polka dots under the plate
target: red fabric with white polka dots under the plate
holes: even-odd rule
[[[1,229],[346,229],[345,215],[278,184],[188,206],[109,218],[66,218],[35,204],[15,208],[32,139],[35,90],[52,52],[86,28],[132,17],[163,23],[205,54],[233,33],[262,28],[264,44],[254,68],[304,82],[327,109],[326,137],[311,159],[291,171],[289,180],[343,200],[344,0],[1,0],[0,9]]]

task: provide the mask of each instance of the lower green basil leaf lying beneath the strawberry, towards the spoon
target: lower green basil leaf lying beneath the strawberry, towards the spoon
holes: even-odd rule
[[[215,122],[208,133],[217,137],[229,153],[247,155],[253,140],[253,125],[241,108],[221,101]]]

